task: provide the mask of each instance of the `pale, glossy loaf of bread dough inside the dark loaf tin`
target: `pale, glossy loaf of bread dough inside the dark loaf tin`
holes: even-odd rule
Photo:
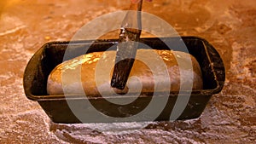
[[[116,51],[94,52],[62,62],[49,74],[48,94],[62,95],[63,88],[65,94],[85,92],[87,96],[127,93],[129,89],[153,92],[155,84],[160,90],[166,90],[167,82],[171,84],[168,90],[172,91],[178,91],[184,84],[190,84],[192,89],[203,88],[201,68],[194,56],[180,51],[155,49],[138,49],[136,59],[139,59],[134,61],[125,89],[111,88],[115,55]],[[160,67],[162,63],[165,69]],[[164,72],[169,74],[170,81]]]

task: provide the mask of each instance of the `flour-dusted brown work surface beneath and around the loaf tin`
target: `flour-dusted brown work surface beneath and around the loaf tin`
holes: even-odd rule
[[[212,96],[200,118],[113,135],[91,125],[53,124],[37,102],[26,99],[23,72],[37,49],[69,40],[90,20],[128,5],[128,0],[1,1],[0,143],[256,143],[254,0],[144,4],[144,11],[166,20],[180,35],[205,37],[224,59],[224,89]],[[124,124],[124,130],[131,125]]]

